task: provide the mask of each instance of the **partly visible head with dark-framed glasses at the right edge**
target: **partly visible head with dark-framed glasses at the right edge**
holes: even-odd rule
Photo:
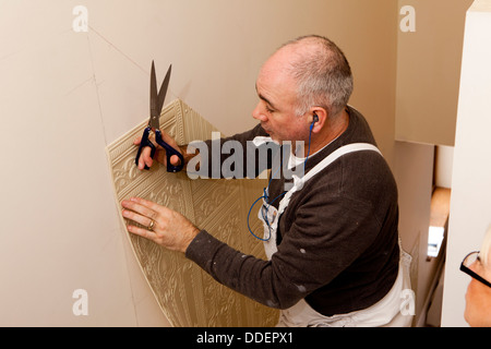
[[[491,327],[491,227],[481,250],[467,255],[462,269],[471,276],[466,293],[466,322],[472,327]]]

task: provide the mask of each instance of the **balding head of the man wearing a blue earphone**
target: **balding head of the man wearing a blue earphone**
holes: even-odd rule
[[[307,141],[314,113],[322,129],[345,109],[352,93],[351,69],[334,43],[303,36],[284,44],[264,63],[256,91],[253,117],[266,132],[277,141]]]

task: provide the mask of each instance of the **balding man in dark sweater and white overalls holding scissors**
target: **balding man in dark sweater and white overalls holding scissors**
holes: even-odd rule
[[[288,161],[304,166],[306,176],[288,186],[282,172],[264,195],[268,261],[243,256],[180,214],[137,197],[123,202],[123,215],[153,229],[130,225],[129,231],[184,252],[219,282],[282,309],[278,325],[408,325],[410,316],[399,322],[407,280],[399,267],[397,189],[367,121],[347,106],[352,76],[345,56],[324,37],[300,37],[264,63],[256,91],[252,116],[260,124],[227,140],[244,148],[267,136],[306,144]],[[145,164],[152,165],[149,152],[139,167]]]

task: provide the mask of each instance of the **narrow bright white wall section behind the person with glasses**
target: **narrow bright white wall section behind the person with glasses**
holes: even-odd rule
[[[452,174],[442,326],[465,326],[469,277],[464,256],[479,250],[491,224],[491,0],[467,12]]]

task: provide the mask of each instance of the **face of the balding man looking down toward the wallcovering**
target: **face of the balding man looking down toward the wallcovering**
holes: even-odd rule
[[[260,101],[252,117],[261,121],[262,128],[278,143],[307,142],[309,124],[306,116],[296,115],[296,84],[283,68],[286,59],[285,55],[277,53],[261,70],[255,84]]]

